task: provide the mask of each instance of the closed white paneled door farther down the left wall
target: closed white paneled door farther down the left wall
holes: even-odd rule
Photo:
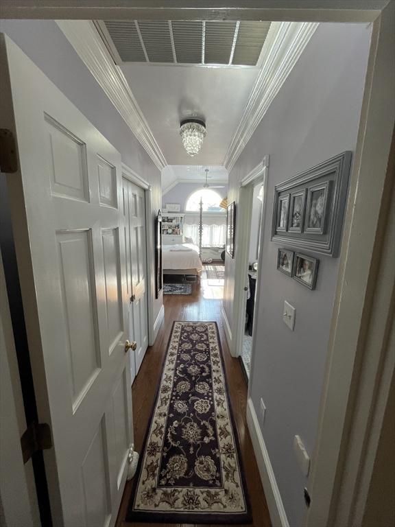
[[[129,296],[129,327],[136,351],[130,353],[132,382],[139,373],[148,347],[147,245],[145,233],[145,191],[123,178],[125,268]]]

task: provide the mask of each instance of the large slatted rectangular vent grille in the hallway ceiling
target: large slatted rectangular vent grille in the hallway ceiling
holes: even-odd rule
[[[115,62],[256,66],[270,22],[96,23]]]

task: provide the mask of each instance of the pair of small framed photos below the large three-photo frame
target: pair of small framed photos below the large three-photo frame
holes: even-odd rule
[[[277,269],[311,290],[315,289],[320,260],[294,250],[280,248],[277,253]]]

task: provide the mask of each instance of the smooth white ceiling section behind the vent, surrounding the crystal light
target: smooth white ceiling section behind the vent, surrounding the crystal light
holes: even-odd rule
[[[258,69],[123,64],[133,95],[169,165],[222,165],[243,115]],[[207,136],[191,158],[180,120],[200,117]]]

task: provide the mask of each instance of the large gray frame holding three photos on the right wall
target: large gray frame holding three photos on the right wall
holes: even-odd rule
[[[273,242],[338,256],[350,163],[343,152],[274,187]]]

